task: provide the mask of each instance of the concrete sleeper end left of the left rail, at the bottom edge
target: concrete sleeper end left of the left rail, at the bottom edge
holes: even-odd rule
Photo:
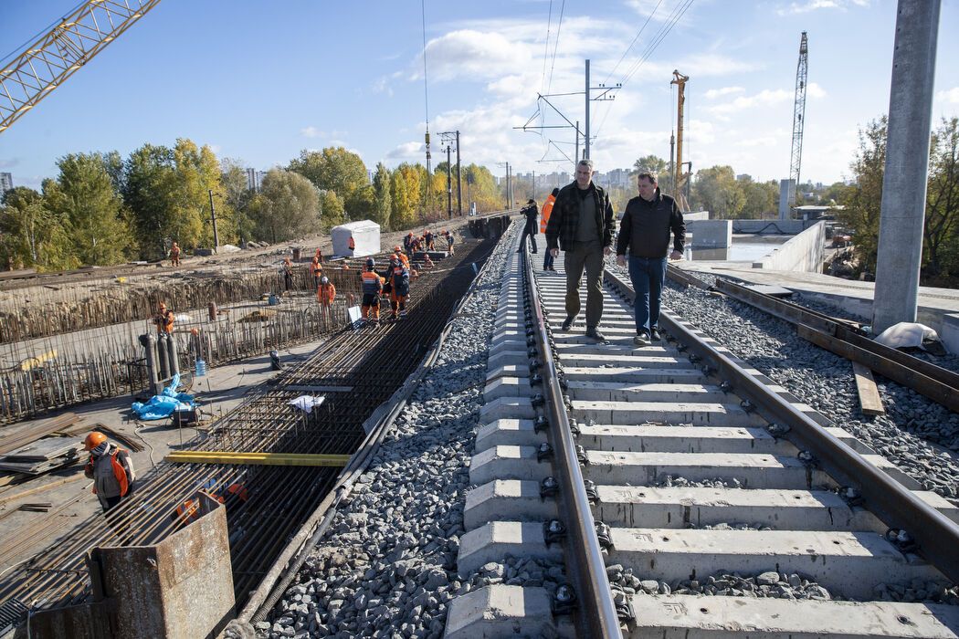
[[[557,623],[558,621],[558,623]],[[478,637],[572,637],[569,620],[554,620],[550,593],[497,583],[456,597],[446,617],[447,639]]]

